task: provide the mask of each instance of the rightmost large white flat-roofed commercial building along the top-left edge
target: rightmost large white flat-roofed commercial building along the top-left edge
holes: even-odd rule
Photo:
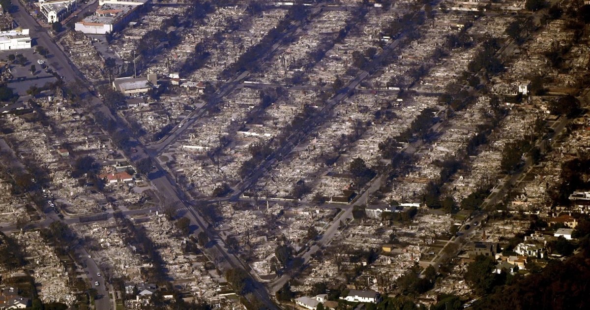
[[[94,15],[76,22],[76,31],[85,34],[108,34],[122,30],[127,22],[137,16],[139,8],[150,0],[140,1],[99,1]]]

